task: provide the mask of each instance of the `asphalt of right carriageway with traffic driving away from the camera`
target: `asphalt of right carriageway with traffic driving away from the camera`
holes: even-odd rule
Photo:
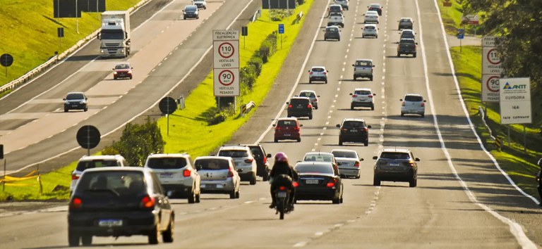
[[[361,0],[351,1],[344,13],[341,41],[324,41],[330,1],[315,1],[271,97],[231,140],[260,142],[267,153],[284,151],[291,163],[308,151],[355,149],[365,160],[360,179],[344,179],[344,203],[300,201],[294,212],[279,220],[267,208],[267,182],[255,186],[245,182],[239,199],[204,194],[196,204],[173,200],[175,241],[152,248],[541,248],[541,209],[498,171],[466,118],[436,1],[380,3],[384,8],[378,39],[361,39],[362,14],[370,4]],[[397,20],[404,16],[416,22],[417,58],[396,57]],[[356,58],[373,59],[377,65],[373,82],[352,80]],[[325,65],[330,71],[328,84],[308,84],[307,70],[313,65]],[[174,68],[169,60],[159,67],[169,73],[176,72]],[[375,110],[350,110],[349,93],[356,87],[369,87],[377,94]],[[320,95],[313,120],[301,120],[300,143],[274,143],[268,129],[272,120],[286,116],[284,103],[302,89]],[[400,116],[399,98],[406,93],[428,99],[425,117]],[[335,125],[346,117],[361,117],[372,125],[367,147],[338,146]],[[421,158],[416,188],[389,181],[373,186],[373,155],[395,146],[410,148]],[[1,217],[0,241],[6,248],[65,248],[65,221],[66,205]],[[93,245],[151,247],[144,236],[95,238]]]

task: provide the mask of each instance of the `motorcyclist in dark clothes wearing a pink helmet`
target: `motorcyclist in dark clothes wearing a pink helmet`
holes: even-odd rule
[[[282,175],[282,176],[281,176]],[[294,204],[295,188],[293,185],[294,181],[298,180],[298,174],[293,167],[288,163],[288,157],[284,152],[279,152],[275,154],[275,162],[273,168],[269,174],[270,184],[271,184],[271,198],[272,202],[269,208],[275,208],[275,193],[274,190],[279,186],[279,184],[286,182],[289,184],[291,194],[290,194],[290,204]]]

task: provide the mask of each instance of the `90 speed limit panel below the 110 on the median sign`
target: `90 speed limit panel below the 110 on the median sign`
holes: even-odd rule
[[[215,96],[239,96],[239,68],[215,68],[213,75]]]

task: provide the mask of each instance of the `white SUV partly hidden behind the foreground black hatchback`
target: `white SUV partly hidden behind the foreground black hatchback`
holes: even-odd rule
[[[126,160],[122,155],[83,155],[77,162],[76,170],[71,172],[70,196],[83,170],[114,166],[126,166]]]

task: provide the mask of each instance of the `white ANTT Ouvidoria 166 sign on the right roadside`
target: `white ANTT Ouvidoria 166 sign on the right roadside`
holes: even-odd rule
[[[531,124],[531,80],[529,78],[501,78],[500,123]]]

